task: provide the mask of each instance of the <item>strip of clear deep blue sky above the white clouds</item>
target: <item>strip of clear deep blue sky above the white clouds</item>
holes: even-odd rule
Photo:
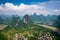
[[[37,3],[37,2],[46,2],[46,1],[50,1],[50,0],[0,0],[0,4],[5,4],[6,2],[9,2],[15,5],[19,5],[21,3],[31,4],[32,2]]]

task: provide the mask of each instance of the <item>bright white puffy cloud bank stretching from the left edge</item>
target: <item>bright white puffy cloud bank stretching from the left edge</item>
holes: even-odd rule
[[[0,5],[0,13],[6,14],[33,14],[33,13],[46,13],[45,7],[38,5],[25,5],[21,3],[19,6],[14,5],[12,3],[5,3],[4,5]]]

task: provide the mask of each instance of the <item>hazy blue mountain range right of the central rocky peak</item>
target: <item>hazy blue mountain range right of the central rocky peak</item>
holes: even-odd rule
[[[48,24],[52,25],[54,21],[57,19],[57,15],[37,15],[36,13],[30,16],[32,21],[35,23],[42,23],[42,24]]]

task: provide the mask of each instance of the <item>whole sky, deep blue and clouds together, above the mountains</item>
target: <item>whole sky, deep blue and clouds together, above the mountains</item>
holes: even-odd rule
[[[0,0],[0,15],[60,15],[60,0]]]

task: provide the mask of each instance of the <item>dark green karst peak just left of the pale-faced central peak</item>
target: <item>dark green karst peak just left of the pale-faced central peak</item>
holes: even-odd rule
[[[9,22],[9,25],[12,26],[12,27],[16,27],[16,26],[19,26],[19,24],[21,23],[21,19],[19,16],[15,16],[15,15],[12,15],[12,18],[11,18],[11,21]]]

